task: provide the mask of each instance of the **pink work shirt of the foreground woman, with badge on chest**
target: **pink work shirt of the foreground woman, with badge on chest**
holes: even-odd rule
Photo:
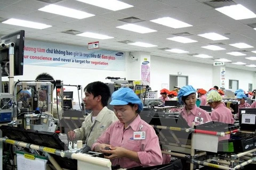
[[[145,132],[146,139],[133,140],[133,132],[140,131],[140,126],[143,126],[141,131]],[[123,147],[137,152],[140,163],[126,157],[111,159],[111,163],[113,165],[120,165],[121,168],[154,166],[161,165],[163,162],[155,130],[152,126],[141,120],[139,115],[126,129],[124,129],[124,124],[120,121],[116,121],[111,124],[92,145],[92,148],[94,149],[94,147],[100,143],[105,143],[113,147]]]

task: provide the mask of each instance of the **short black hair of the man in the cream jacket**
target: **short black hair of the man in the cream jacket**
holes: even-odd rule
[[[108,105],[108,99],[111,96],[110,90],[107,84],[101,81],[94,81],[84,88],[84,92],[89,92],[93,97],[101,96],[101,104],[103,107]]]

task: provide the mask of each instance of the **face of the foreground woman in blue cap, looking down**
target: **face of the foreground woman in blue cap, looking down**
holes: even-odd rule
[[[118,120],[126,125],[129,125],[137,116],[138,105],[114,105],[113,108]]]

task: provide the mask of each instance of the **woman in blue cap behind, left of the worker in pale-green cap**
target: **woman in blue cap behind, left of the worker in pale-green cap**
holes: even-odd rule
[[[196,106],[196,90],[188,85],[184,86],[178,92],[179,101],[185,104],[180,114],[191,126],[193,122],[196,124],[212,121],[210,114]]]

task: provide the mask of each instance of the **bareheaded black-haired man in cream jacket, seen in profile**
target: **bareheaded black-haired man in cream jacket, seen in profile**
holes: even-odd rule
[[[117,121],[113,111],[107,108],[110,90],[107,84],[95,81],[84,88],[84,104],[92,112],[85,117],[82,127],[68,132],[69,140],[84,140],[90,148],[100,135]]]

